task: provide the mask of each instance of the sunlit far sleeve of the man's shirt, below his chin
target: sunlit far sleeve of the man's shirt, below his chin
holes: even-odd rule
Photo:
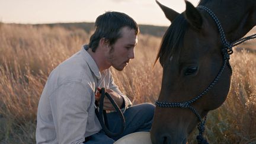
[[[124,99],[124,107],[121,109],[124,113],[124,111],[128,108],[132,106],[132,101],[130,101],[130,99],[124,95],[120,89],[117,87],[117,85],[114,83],[114,79],[112,78],[111,72],[110,72],[110,85],[109,85],[110,89],[112,89],[113,91],[117,92],[117,94],[119,94],[121,97],[123,97]]]

